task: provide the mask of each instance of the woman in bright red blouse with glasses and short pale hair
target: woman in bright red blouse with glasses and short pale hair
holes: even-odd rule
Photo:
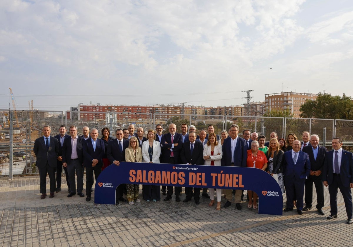
[[[251,149],[247,150],[246,165],[247,167],[253,167],[262,170],[267,168],[267,157],[264,152],[259,150],[259,143],[257,141],[252,141]],[[257,209],[257,194],[253,191],[247,191],[247,195],[249,196],[249,203],[247,207],[249,209],[252,207]]]

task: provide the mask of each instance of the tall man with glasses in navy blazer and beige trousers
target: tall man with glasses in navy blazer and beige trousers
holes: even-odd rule
[[[230,137],[226,138],[222,145],[223,156],[221,159],[221,165],[223,166],[235,166],[235,167],[246,167],[247,149],[243,138],[238,136],[239,126],[232,124],[229,129]],[[235,206],[238,210],[241,210],[241,189],[235,190]],[[225,195],[227,202],[224,207],[229,207],[232,204],[232,190],[225,189]]]

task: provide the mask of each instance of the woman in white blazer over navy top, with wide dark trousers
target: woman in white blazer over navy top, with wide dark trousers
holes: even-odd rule
[[[161,145],[156,141],[156,133],[153,129],[147,132],[148,140],[142,143],[142,162],[144,163],[160,163]],[[161,200],[161,186],[159,185],[142,185],[142,196],[146,201]]]

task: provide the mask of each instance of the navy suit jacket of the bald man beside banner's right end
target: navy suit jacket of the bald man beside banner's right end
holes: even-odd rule
[[[305,182],[305,177],[310,175],[309,155],[303,151],[299,151],[297,162],[294,165],[292,158],[292,150],[285,152],[283,159],[283,177],[286,181]]]

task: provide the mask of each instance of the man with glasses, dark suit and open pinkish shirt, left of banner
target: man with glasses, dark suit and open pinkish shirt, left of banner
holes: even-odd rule
[[[84,139],[77,135],[77,127],[72,125],[69,128],[70,138],[64,140],[62,145],[62,165],[67,167],[68,180],[70,183],[70,194],[72,197],[76,194],[75,171],[77,176],[77,194],[80,197],[85,195],[83,191],[83,142]]]

